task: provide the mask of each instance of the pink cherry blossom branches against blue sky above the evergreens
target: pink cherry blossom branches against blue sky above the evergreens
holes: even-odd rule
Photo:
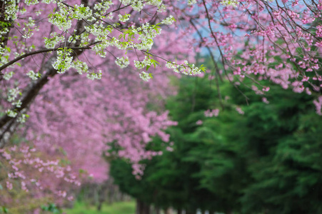
[[[194,35],[188,45],[213,59],[217,82],[226,77],[238,88],[248,78],[261,95],[269,90],[263,80],[314,93],[321,114],[322,1],[189,2],[172,2],[171,11],[183,23],[182,34]]]

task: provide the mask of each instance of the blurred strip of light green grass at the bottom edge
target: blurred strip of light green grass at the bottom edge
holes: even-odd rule
[[[66,214],[134,214],[135,201],[116,202],[102,205],[101,211],[94,206],[76,202],[74,208],[64,210]]]

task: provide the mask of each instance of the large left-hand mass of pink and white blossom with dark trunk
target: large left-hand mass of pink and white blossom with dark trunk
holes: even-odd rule
[[[19,134],[26,136],[33,146],[40,148],[47,156],[66,153],[71,161],[71,170],[85,169],[96,180],[103,180],[107,176],[107,166],[101,156],[118,155],[131,161],[134,174],[140,175],[144,166],[140,165],[139,161],[142,158],[151,158],[160,154],[146,151],[146,143],[156,135],[159,135],[163,141],[168,141],[168,135],[163,133],[163,130],[175,124],[168,121],[167,113],[163,112],[162,108],[159,110],[154,108],[156,111],[146,108],[149,103],[150,106],[152,103],[154,105],[162,103],[163,98],[174,91],[168,86],[168,78],[161,75],[163,70],[157,67],[158,62],[154,60],[156,55],[148,52],[153,44],[152,39],[161,32],[161,29],[156,25],[150,26],[148,21],[154,19],[150,15],[141,16],[140,21],[146,24],[140,27],[135,21],[140,16],[136,11],[141,9],[136,7],[130,9],[129,3],[124,2],[125,6],[121,6],[120,3],[116,4],[117,2],[114,5],[112,1],[102,3],[82,1],[83,6],[79,6],[82,9],[79,10],[84,9],[83,12],[90,10],[87,12],[105,14],[111,7],[109,14],[104,16],[104,19],[111,20],[111,24],[104,21],[102,17],[99,19],[103,21],[91,20],[93,17],[89,15],[86,16],[89,20],[84,17],[77,18],[78,21],[71,20],[74,28],[71,31],[72,34],[75,36],[79,34],[75,41],[72,41],[73,39],[67,39],[72,34],[69,35],[64,29],[65,24],[69,24],[69,20],[61,19],[63,24],[59,26],[52,17],[59,16],[59,13],[69,13],[64,9],[78,13],[78,9],[73,9],[77,2],[75,1],[73,6],[56,2],[47,3],[50,2],[34,1],[16,4],[15,1],[6,1],[2,4],[5,15],[1,18],[1,23],[4,24],[2,30],[8,34],[2,37],[1,49],[3,51],[1,73],[4,73],[1,81],[4,90],[1,91],[1,97],[6,98],[1,100],[1,110],[6,111],[6,114],[2,114],[0,119],[0,147],[8,146],[10,136],[16,131],[16,127],[19,123],[26,122],[19,130]],[[59,6],[64,9],[60,9]],[[24,11],[24,8],[29,10]],[[11,19],[15,18],[15,11],[11,11],[12,14],[9,14],[9,11],[14,9],[17,16],[16,20],[12,21]],[[156,9],[162,9],[162,5],[150,6],[150,9],[155,12]],[[44,11],[54,11],[49,16],[49,21],[47,20],[49,14]],[[121,15],[120,11],[127,14]],[[147,11],[149,8],[145,12]],[[115,17],[112,13],[116,13]],[[126,20],[129,16],[134,18]],[[173,22],[171,17],[166,18],[166,15],[162,17],[163,19],[156,19],[160,21],[161,26]],[[129,23],[126,24],[126,21]],[[96,22],[99,23],[98,26]],[[88,29],[92,26],[94,29],[101,27],[99,31],[104,29],[104,35],[107,37],[104,37],[105,39],[101,37],[103,31],[99,35],[94,32],[94,29]],[[128,27],[127,34],[131,36],[124,37],[124,41],[121,41],[119,36],[124,33],[126,27]],[[57,34],[59,28],[63,28],[60,29],[63,30],[62,34]],[[124,35],[127,34],[124,33]],[[132,34],[141,37],[135,38]],[[45,38],[50,35],[50,39]],[[95,41],[97,36],[101,41]],[[97,46],[102,44],[102,41],[106,42],[106,38],[109,38],[109,44]],[[183,47],[183,41],[178,42],[177,39],[176,35],[169,31],[159,41],[157,57],[164,58],[174,54],[180,57],[181,51],[187,51]],[[134,42],[134,40],[137,41]],[[124,45],[127,47],[124,48]],[[115,47],[107,49],[108,46]],[[182,48],[169,49],[171,46],[182,46]],[[130,47],[132,51],[127,50],[129,52],[124,56],[126,50],[123,49]],[[33,51],[34,49],[36,51]],[[105,57],[105,54],[109,54],[110,57]],[[129,66],[130,60],[135,60],[131,66]],[[156,78],[144,84],[139,77],[146,81],[153,76],[146,72],[138,72],[137,68],[151,65],[157,67],[154,68],[153,74]],[[129,68],[126,68],[127,66]],[[71,71],[66,72],[69,68]],[[185,72],[189,69],[191,72],[200,72],[188,63],[182,69]],[[103,76],[100,70],[105,71]],[[82,73],[86,76],[79,75]],[[79,90],[74,90],[76,88]],[[30,119],[26,121],[29,116]],[[119,145],[119,152],[109,154],[110,144],[114,142]],[[10,155],[12,150],[3,152]],[[26,179],[34,179],[26,176],[19,178],[11,176],[8,178],[9,183],[11,178],[20,179],[21,183],[26,183]],[[3,186],[6,186],[6,181],[1,179]],[[54,183],[54,181],[51,182],[51,185]],[[59,182],[56,183],[60,185]],[[7,189],[10,190],[10,187],[9,185]],[[26,190],[29,189],[26,188]],[[64,198],[68,196],[60,191],[54,191],[54,193]]]

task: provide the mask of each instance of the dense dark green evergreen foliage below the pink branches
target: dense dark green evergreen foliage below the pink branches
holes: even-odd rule
[[[239,86],[246,102],[234,86],[222,83],[229,96],[219,102],[207,75],[181,78],[178,86],[167,102],[178,121],[168,128],[173,151],[145,161],[141,180],[131,176],[125,161],[112,162],[121,190],[188,213],[322,212],[322,121],[313,96],[280,86],[258,96]],[[207,117],[205,111],[215,108],[219,115]],[[161,143],[155,139],[149,146],[158,151]]]

